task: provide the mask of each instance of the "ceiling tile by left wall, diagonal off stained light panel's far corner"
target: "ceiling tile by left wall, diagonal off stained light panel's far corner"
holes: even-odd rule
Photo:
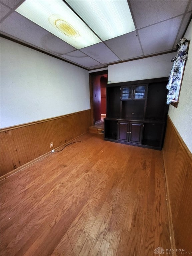
[[[76,50],[67,54],[62,54],[60,57],[63,57],[67,60],[73,61],[84,67],[100,65],[96,60],[88,57],[86,54]]]

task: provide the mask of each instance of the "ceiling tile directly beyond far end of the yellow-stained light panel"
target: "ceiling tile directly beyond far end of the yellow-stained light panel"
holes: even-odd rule
[[[88,46],[81,49],[81,51],[102,64],[106,63],[106,61],[110,63],[119,60],[119,58],[104,43]]]

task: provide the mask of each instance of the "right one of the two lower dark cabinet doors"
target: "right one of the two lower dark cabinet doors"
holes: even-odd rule
[[[130,123],[129,142],[142,143],[143,123]]]

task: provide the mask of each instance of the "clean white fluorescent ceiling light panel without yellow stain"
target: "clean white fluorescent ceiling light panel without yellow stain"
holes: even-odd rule
[[[66,0],[104,41],[135,30],[127,0]]]

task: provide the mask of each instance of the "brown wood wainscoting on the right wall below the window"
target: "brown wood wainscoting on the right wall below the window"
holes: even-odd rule
[[[169,117],[163,157],[175,249],[192,255],[192,154]]]

